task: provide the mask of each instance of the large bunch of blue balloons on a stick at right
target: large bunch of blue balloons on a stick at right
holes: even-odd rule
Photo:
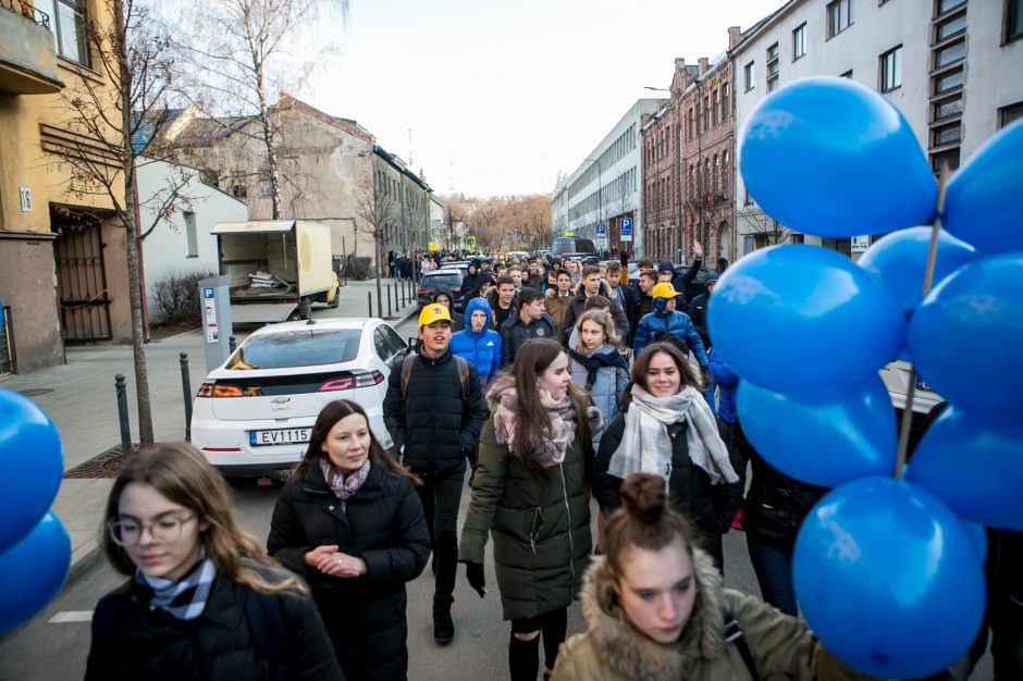
[[[1023,220],[1011,208],[1023,122],[956,173],[944,206],[901,113],[846,78],[766,97],[739,144],[750,195],[780,223],[890,233],[859,263],[806,245],[745,256],[718,281],[707,323],[742,376],[750,442],[788,475],[834,487],[796,544],[806,621],[866,673],[933,673],[983,619],[976,523],[1023,530]],[[905,467],[878,375],[900,356],[950,405]]]

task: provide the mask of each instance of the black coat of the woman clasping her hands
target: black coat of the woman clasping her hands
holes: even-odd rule
[[[342,579],[306,565],[306,553],[333,544],[365,560],[366,574]],[[311,467],[281,492],[267,549],[312,587],[349,681],[405,678],[405,583],[422,572],[430,555],[422,505],[408,479],[371,466],[359,491],[343,503],[319,466]]]

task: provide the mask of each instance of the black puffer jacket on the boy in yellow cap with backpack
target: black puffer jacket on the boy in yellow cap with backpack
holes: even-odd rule
[[[480,374],[469,364],[463,388],[451,348],[437,358],[419,352],[402,400],[402,371],[395,367],[384,398],[384,423],[403,461],[416,471],[464,468],[488,417]]]

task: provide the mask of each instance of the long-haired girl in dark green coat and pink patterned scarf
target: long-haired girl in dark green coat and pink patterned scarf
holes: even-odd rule
[[[494,416],[480,436],[459,560],[483,595],[483,548],[488,533],[494,537],[512,679],[535,681],[541,632],[550,672],[588,564],[586,453],[602,423],[571,383],[565,351],[546,338],[522,344],[486,399]]]

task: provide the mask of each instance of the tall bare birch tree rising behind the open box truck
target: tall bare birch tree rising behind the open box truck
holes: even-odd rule
[[[194,14],[189,40],[176,44],[190,75],[183,94],[211,117],[231,112],[251,120],[254,125],[237,132],[258,139],[266,150],[264,163],[258,165],[266,174],[261,181],[270,184],[274,220],[282,216],[283,179],[271,102],[281,92],[283,76],[299,84],[336,51],[318,38],[320,49],[309,52],[312,41],[304,45],[303,32],[335,12],[344,20],[347,11],[347,0],[207,0]]]

